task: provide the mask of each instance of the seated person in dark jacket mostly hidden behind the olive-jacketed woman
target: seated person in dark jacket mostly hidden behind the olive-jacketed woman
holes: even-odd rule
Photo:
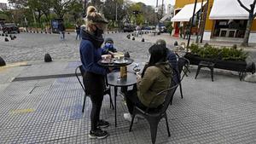
[[[163,39],[158,39],[156,41],[156,44],[160,44],[160,45],[164,45],[164,47],[166,47],[166,41]],[[172,65],[172,68],[174,69],[175,72],[173,72],[173,81],[174,81],[174,85],[178,84],[180,81],[179,78],[179,72],[178,72],[178,68],[177,68],[177,57],[176,55],[172,52],[172,50],[167,49],[167,57],[166,59],[170,62],[170,64]]]

